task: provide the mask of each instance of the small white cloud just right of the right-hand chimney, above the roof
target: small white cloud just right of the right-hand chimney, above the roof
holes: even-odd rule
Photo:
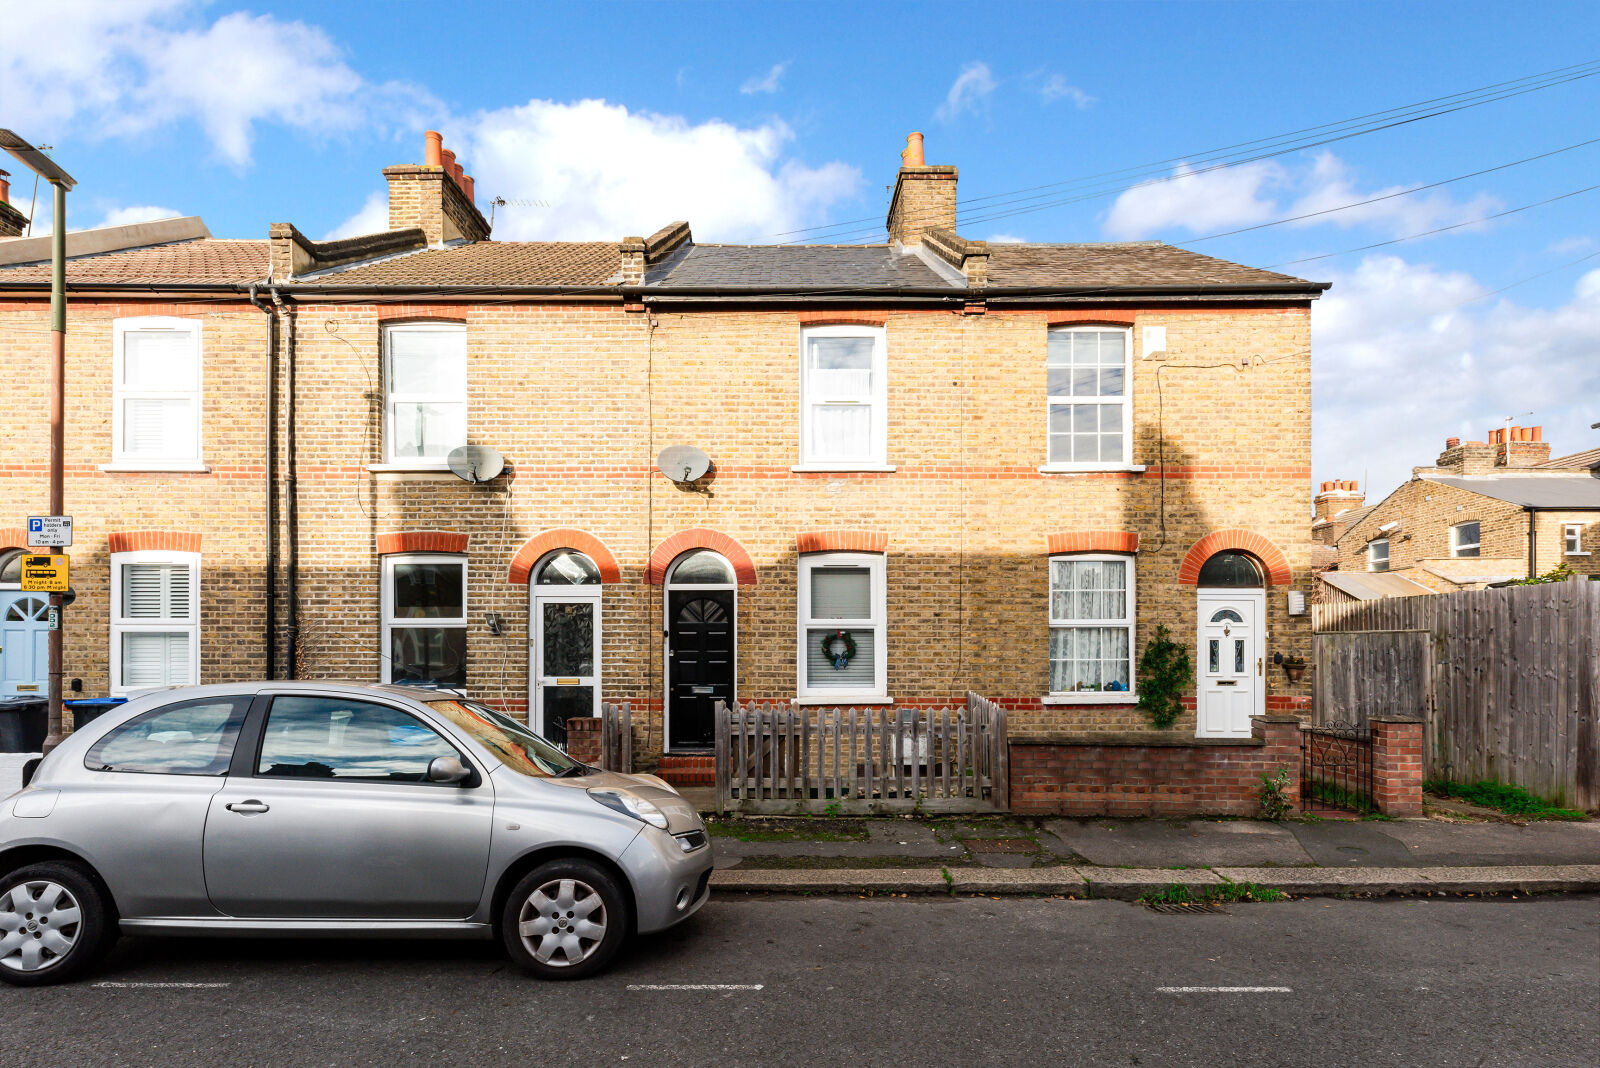
[[[1133,240],[1173,227],[1205,233],[1278,214],[1266,190],[1283,181],[1283,168],[1269,160],[1216,171],[1179,163],[1173,173],[1173,179],[1141,182],[1117,197],[1106,216],[1106,235]]]

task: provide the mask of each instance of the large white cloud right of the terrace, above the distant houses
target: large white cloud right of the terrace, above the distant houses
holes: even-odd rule
[[[1315,478],[1366,476],[1378,500],[1445,438],[1482,441],[1514,414],[1542,425],[1555,454],[1595,444],[1600,270],[1552,309],[1474,304],[1490,286],[1397,256],[1368,256],[1331,281],[1312,305]]]

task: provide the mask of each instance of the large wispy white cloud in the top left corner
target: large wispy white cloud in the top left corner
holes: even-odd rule
[[[195,0],[6,8],[6,34],[35,46],[0,53],[0,99],[27,136],[139,136],[195,122],[243,166],[259,123],[336,133],[437,110],[406,85],[370,85],[314,26],[235,11],[213,22]],[[40,46],[38,42],[50,42]]]

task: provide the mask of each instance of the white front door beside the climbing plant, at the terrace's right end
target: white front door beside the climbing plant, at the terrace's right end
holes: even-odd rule
[[[1202,590],[1197,710],[1200,737],[1250,737],[1250,718],[1264,711],[1266,595],[1261,590]]]

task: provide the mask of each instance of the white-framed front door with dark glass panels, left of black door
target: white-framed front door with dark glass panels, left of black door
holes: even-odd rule
[[[534,596],[533,699],[539,732],[566,745],[566,721],[600,715],[600,598]]]

